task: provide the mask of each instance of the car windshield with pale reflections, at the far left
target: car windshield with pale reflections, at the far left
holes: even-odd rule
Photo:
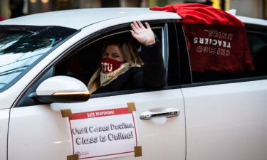
[[[0,90],[73,33],[72,29],[63,30],[58,27],[34,28],[34,31],[32,28],[23,28],[23,31],[0,28]]]

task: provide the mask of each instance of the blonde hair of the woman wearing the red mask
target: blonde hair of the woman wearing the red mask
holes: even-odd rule
[[[125,36],[116,36],[108,40],[103,46],[102,55],[100,58],[103,57],[104,50],[111,45],[118,46],[123,58],[127,63],[130,63],[130,66],[140,65],[142,63],[142,59],[137,52],[135,43],[132,41],[132,39]]]

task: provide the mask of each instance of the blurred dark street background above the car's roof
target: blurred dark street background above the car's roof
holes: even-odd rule
[[[64,9],[152,7],[181,3],[209,4],[225,11],[237,9],[237,15],[267,19],[267,0],[0,0],[0,15],[14,18]]]

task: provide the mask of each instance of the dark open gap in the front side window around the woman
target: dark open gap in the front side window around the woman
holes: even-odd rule
[[[153,28],[153,31],[157,40],[160,42],[160,46],[162,46],[162,27]],[[73,55],[59,62],[55,66],[55,75],[67,75],[88,85],[90,78],[100,67],[100,55],[103,52],[102,49],[105,41],[117,36],[131,38],[137,48],[138,54],[141,55],[140,43],[132,38],[130,31],[106,33],[105,36],[100,36],[93,43],[83,46],[83,48],[80,48]]]

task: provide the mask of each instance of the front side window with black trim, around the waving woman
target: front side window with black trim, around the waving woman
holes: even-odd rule
[[[152,27],[152,30],[154,31],[155,36],[159,41],[159,48],[161,48],[163,58],[165,60],[165,58],[167,57],[165,57],[166,53],[164,52],[162,47],[164,45],[164,38],[162,35],[164,23],[162,24],[154,22],[150,23],[150,26]],[[73,47],[70,51],[63,54],[61,58],[58,58],[55,62],[51,63],[51,66],[49,67],[50,69],[48,68],[49,70],[43,71],[43,73],[41,73],[40,76],[36,78],[35,82],[31,84],[31,87],[28,87],[28,89],[23,93],[21,100],[19,100],[15,104],[15,106],[23,107],[28,105],[39,104],[40,102],[31,100],[31,94],[35,92],[36,88],[41,82],[43,82],[43,80],[46,80],[51,76],[66,75],[80,80],[87,86],[90,78],[95,73],[95,70],[97,70],[100,66],[100,55],[105,41],[108,38],[118,35],[132,37],[130,29],[131,28],[129,24],[121,25],[119,29],[115,28],[115,30],[112,28],[108,28],[108,31],[100,31],[100,33],[93,34],[93,36],[89,35],[87,39],[83,39],[83,41],[80,41],[80,43],[77,44],[77,47]],[[140,43],[135,41],[135,46],[137,47],[137,51],[140,53]],[[164,63],[164,66],[166,68],[167,64]],[[151,90],[142,88],[134,90],[122,90],[118,92],[103,92],[93,94],[90,97],[105,97],[110,95],[122,95],[133,92],[147,91]]]

